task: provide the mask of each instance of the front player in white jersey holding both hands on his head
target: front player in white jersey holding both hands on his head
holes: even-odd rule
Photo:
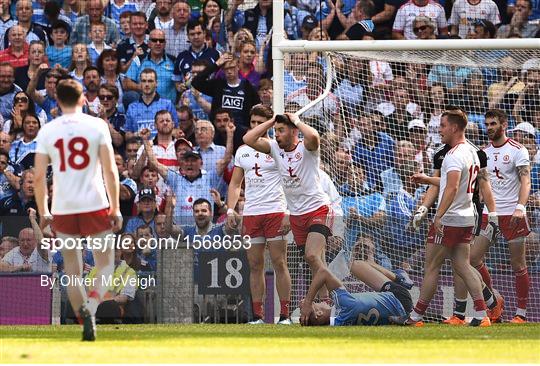
[[[275,128],[275,140],[265,137],[272,127]],[[302,132],[303,140],[298,138],[299,132]],[[311,271],[317,273],[325,266],[321,256],[328,237],[332,235],[330,202],[319,177],[319,134],[298,116],[286,113],[248,131],[244,142],[263,154],[270,154],[278,165],[287,207],[291,212],[294,240],[304,251]],[[329,300],[325,288],[321,288],[319,296]]]

